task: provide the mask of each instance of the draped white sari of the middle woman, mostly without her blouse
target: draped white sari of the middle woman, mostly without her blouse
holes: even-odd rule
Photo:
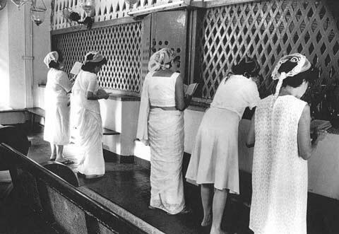
[[[150,143],[150,206],[175,214],[185,206],[182,178],[184,114],[179,110],[150,109],[149,93],[152,90],[149,83],[154,78],[148,74],[143,83],[137,138]],[[176,77],[173,78],[170,86],[175,84]],[[168,88],[166,85],[165,82],[161,88]]]

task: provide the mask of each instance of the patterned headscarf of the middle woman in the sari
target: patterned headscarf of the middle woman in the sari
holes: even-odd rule
[[[169,68],[169,62],[175,58],[175,53],[172,49],[163,48],[152,54],[150,62],[148,62],[149,71],[159,71]]]

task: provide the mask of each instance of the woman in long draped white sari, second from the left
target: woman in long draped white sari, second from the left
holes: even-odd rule
[[[98,100],[107,99],[109,94],[97,84],[97,73],[104,64],[107,64],[105,57],[98,52],[88,52],[72,88],[72,127],[75,129],[76,144],[83,151],[78,158],[78,172],[87,179],[105,174]]]

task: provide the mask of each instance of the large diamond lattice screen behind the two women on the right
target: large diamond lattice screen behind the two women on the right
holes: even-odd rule
[[[203,98],[213,98],[220,80],[244,54],[262,66],[262,95],[272,88],[268,76],[275,63],[292,52],[321,67],[318,82],[338,79],[339,23],[333,13],[338,7],[337,1],[273,0],[208,9],[201,31]]]

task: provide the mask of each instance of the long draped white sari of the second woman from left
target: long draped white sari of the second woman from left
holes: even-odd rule
[[[102,119],[98,100],[88,100],[87,91],[97,93],[97,76],[81,70],[71,95],[71,125],[76,145],[80,148],[78,172],[84,175],[105,174],[102,153]]]

